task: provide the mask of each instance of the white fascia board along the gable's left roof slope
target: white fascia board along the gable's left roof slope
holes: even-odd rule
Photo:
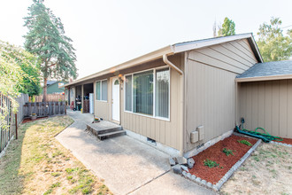
[[[214,44],[227,43],[227,42],[232,42],[235,40],[240,40],[240,39],[250,38],[250,37],[252,37],[251,33],[242,34],[242,35],[222,36],[222,37],[214,38],[210,40],[201,40],[201,41],[199,40],[199,41],[195,41],[194,43],[174,44],[173,49],[174,49],[174,53],[180,53],[183,51],[191,51],[191,50],[195,50],[195,49],[199,49],[203,47],[208,47]]]

